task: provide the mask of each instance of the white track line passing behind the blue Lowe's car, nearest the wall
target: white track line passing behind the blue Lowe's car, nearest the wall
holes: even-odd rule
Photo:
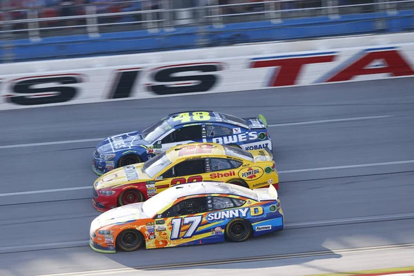
[[[343,119],[331,119],[331,120],[319,120],[319,121],[298,121],[296,123],[286,123],[286,124],[269,124],[268,127],[275,126],[297,126],[297,125],[308,125],[308,124],[324,124],[324,123],[335,123],[339,121],[360,121],[360,120],[369,120],[369,119],[383,119],[395,117],[395,115],[383,115],[383,116],[370,116],[370,117],[353,117],[353,118],[343,118]],[[102,141],[105,138],[92,138],[92,139],[80,139],[80,140],[66,140],[66,141],[50,141],[43,143],[32,143],[32,144],[15,144],[15,145],[4,145],[0,146],[0,149],[3,148],[24,148],[32,146],[50,146],[50,145],[60,145],[60,144],[74,144],[74,143],[84,143],[92,141]]]

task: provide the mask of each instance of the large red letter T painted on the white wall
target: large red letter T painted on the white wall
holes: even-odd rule
[[[279,70],[275,70],[270,86],[293,86],[296,83],[300,70],[305,64],[331,62],[334,57],[335,55],[326,55],[253,61],[250,68],[280,67]]]

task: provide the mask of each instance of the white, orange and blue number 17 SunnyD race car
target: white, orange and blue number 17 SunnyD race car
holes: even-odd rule
[[[99,215],[90,225],[90,247],[100,253],[244,242],[284,228],[273,186],[257,190],[217,182],[181,184],[148,201]]]

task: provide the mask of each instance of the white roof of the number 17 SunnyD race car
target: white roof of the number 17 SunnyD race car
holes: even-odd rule
[[[186,184],[179,184],[172,188],[175,192],[175,197],[188,197],[190,195],[204,195],[204,194],[220,194],[220,195],[237,195],[240,197],[248,197],[250,199],[259,200],[257,193],[248,188],[228,184],[224,182],[201,181]]]

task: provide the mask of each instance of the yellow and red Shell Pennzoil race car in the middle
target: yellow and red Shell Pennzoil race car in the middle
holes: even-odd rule
[[[133,204],[178,184],[224,181],[246,188],[279,188],[273,155],[267,148],[193,143],[170,148],[145,163],[111,170],[93,185],[92,205],[106,210]]]

